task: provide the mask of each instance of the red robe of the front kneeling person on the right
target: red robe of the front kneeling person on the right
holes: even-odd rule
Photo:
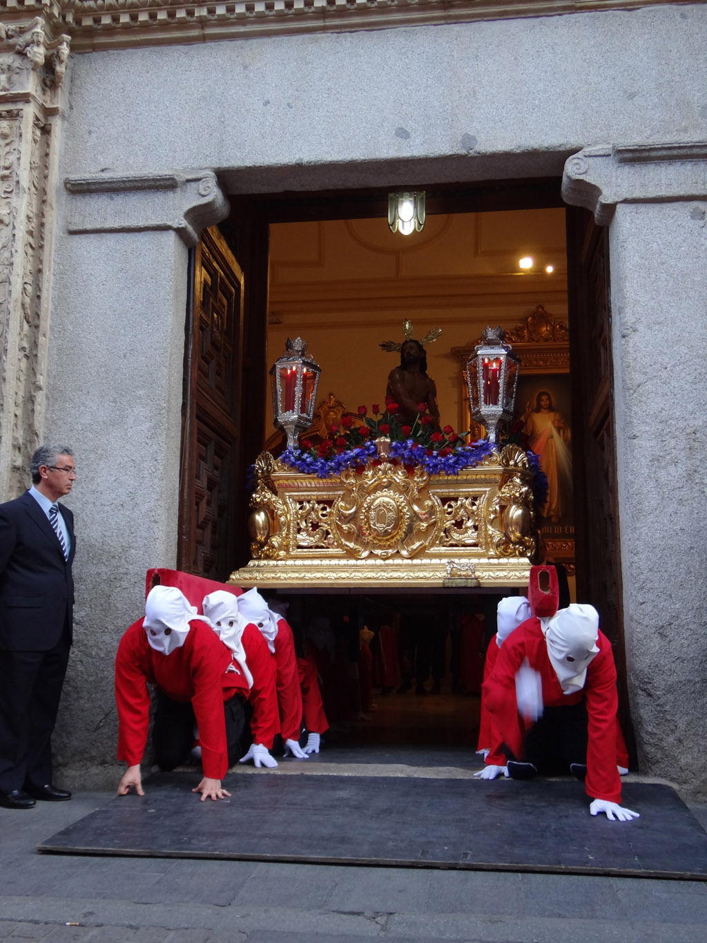
[[[586,794],[592,799],[621,802],[621,781],[617,770],[617,669],[611,642],[602,633],[597,641],[600,653],[589,663],[581,691],[565,694],[557,680],[540,622],[524,621],[506,638],[496,666],[484,684],[484,698],[501,741],[517,756],[522,755],[523,720],[516,703],[516,672],[524,658],[540,672],[543,703],[562,707],[586,701],[588,744],[586,750]],[[496,762],[492,754],[486,764]]]

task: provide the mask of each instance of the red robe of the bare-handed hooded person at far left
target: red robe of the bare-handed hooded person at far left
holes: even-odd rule
[[[118,759],[128,766],[140,764],[150,722],[147,685],[156,685],[173,701],[191,702],[199,725],[204,775],[222,779],[228,769],[223,702],[237,691],[247,696],[245,678],[240,672],[227,671],[233,663],[231,651],[205,622],[190,621],[184,645],[170,654],[150,647],[142,622],[133,622],[115,657]]]

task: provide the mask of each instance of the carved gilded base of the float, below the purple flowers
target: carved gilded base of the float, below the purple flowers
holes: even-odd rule
[[[255,462],[253,560],[238,586],[517,586],[537,554],[533,473],[518,446],[458,475],[379,461],[329,478]],[[458,581],[462,581],[459,583]],[[451,581],[451,582],[450,582]]]

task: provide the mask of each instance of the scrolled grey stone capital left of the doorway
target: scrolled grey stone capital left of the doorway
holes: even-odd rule
[[[170,174],[66,177],[70,233],[173,229],[188,246],[228,215],[228,200],[210,170]]]

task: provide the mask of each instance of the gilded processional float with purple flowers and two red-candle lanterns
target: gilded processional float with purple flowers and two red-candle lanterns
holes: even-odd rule
[[[411,337],[412,325],[404,326]],[[283,590],[527,586],[544,476],[533,453],[498,442],[499,424],[513,416],[518,368],[501,328],[487,328],[466,370],[471,415],[486,431],[475,443],[449,426],[430,432],[423,415],[401,425],[388,402],[372,415],[360,406],[342,416],[315,445],[298,435],[312,426],[321,368],[302,339],[288,339],[271,369],[275,425],[287,448],[255,461],[252,559],[230,582]]]

